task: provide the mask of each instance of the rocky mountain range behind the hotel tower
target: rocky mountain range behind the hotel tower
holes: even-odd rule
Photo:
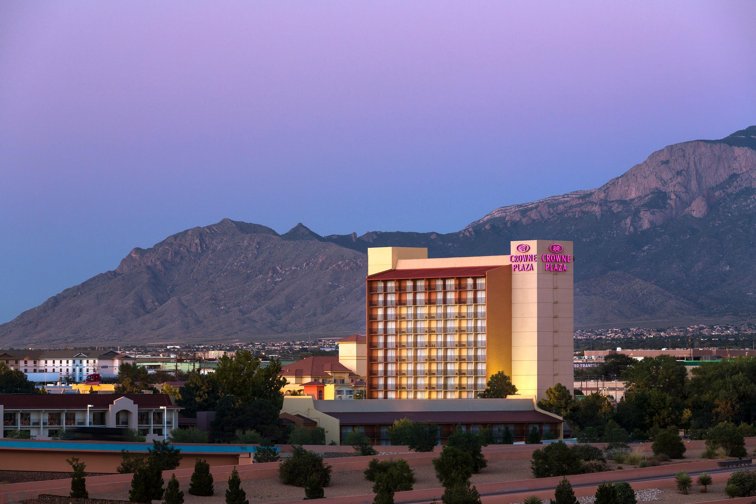
[[[575,242],[576,326],[753,318],[756,126],[670,145],[602,187],[504,206],[455,233],[279,234],[225,218],[133,249],[0,325],[0,345],[363,332],[368,247],[507,254],[536,238]]]

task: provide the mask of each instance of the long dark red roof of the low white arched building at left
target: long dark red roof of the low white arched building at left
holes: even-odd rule
[[[177,408],[166,394],[0,394],[0,404],[6,410],[107,410],[119,397],[128,397],[140,408]]]

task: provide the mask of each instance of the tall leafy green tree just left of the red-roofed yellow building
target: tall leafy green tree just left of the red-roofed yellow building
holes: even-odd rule
[[[237,351],[234,356],[224,355],[215,368],[215,377],[226,393],[235,395],[245,403],[268,400],[280,411],[283,407],[281,388],[287,381],[280,373],[280,360],[271,360],[262,366],[249,350]]]

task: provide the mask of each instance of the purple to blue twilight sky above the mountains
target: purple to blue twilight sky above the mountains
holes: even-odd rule
[[[6,0],[0,323],[224,217],[449,232],[722,138],[756,124],[754,26],[754,2]]]

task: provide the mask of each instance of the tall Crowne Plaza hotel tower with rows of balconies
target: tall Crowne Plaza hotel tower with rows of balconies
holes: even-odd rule
[[[367,249],[367,397],[472,398],[503,371],[518,394],[572,390],[572,242],[428,258]]]

